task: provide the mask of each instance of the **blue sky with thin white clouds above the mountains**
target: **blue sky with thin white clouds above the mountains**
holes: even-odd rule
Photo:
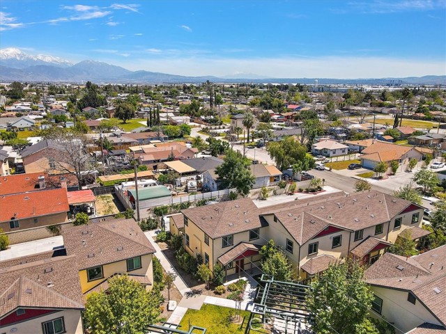
[[[183,75],[446,74],[446,0],[1,0],[0,48]]]

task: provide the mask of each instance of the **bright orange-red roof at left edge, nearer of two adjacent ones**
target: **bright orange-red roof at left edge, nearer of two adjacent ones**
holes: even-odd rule
[[[0,221],[47,216],[68,212],[67,191],[64,188],[31,191],[0,196]]]

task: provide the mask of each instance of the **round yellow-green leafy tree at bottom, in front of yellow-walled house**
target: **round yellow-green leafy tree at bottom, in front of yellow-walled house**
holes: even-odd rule
[[[109,279],[105,292],[89,294],[84,324],[91,334],[144,334],[160,315],[160,292],[146,289],[128,276]]]

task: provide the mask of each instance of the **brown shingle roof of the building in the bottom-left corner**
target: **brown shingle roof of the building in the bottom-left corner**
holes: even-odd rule
[[[2,316],[19,307],[84,309],[75,256],[3,267],[0,282]]]

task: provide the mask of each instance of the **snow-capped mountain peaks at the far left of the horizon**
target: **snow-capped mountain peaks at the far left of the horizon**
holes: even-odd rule
[[[0,65],[13,68],[26,68],[35,65],[53,65],[59,67],[69,67],[73,64],[65,59],[38,54],[33,56],[15,47],[0,49]]]

